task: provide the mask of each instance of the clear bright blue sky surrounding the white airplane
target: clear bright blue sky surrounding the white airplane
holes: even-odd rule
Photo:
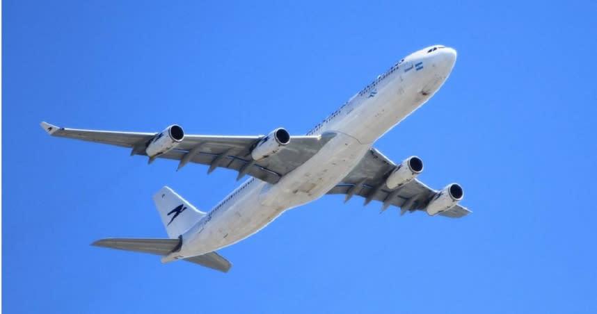
[[[3,1],[6,313],[597,312],[595,1],[198,2]],[[236,173],[38,126],[303,134],[432,44],[452,75],[374,146],[474,213],[326,196],[222,249],[228,274],[89,244],[166,237],[154,192],[207,210]]]

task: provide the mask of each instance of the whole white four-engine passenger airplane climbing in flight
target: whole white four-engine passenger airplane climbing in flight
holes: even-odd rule
[[[279,128],[268,135],[185,135],[182,127],[161,133],[65,129],[42,122],[47,133],[62,138],[113,144],[131,155],[180,160],[237,170],[242,183],[209,213],[197,210],[168,187],[153,197],[168,239],[108,238],[93,245],[163,256],[162,263],[182,259],[228,272],[230,262],[216,253],[256,233],[285,210],[326,194],[353,195],[401,208],[401,215],[424,210],[429,215],[463,217],[456,183],[433,190],[416,179],[423,170],[417,156],[399,164],[372,144],[424,104],[445,82],[456,61],[454,49],[433,46],[400,60],[317,124],[307,135]]]

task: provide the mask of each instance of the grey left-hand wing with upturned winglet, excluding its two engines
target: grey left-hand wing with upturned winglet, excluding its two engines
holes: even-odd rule
[[[145,147],[159,134],[67,129],[47,122],[42,122],[41,126],[50,135],[60,138],[74,138],[127,147],[132,149],[132,156],[147,156]],[[290,142],[277,154],[255,161],[251,157],[251,150],[257,142],[264,138],[264,135],[184,135],[182,141],[174,149],[157,156],[157,158],[180,160],[178,169],[189,162],[199,163],[209,165],[208,173],[216,167],[224,167],[239,172],[237,179],[248,174],[268,183],[277,183],[283,175],[315,155],[334,136],[335,133],[324,133],[324,135],[317,136],[291,136]],[[150,158],[150,163],[152,161],[153,158]]]

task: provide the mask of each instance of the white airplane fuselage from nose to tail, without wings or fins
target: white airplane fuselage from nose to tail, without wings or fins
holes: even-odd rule
[[[186,231],[180,251],[163,261],[232,245],[285,210],[325,195],[356,167],[378,138],[433,96],[455,60],[456,51],[444,47],[422,49],[401,60],[308,133],[335,134],[315,156],[276,184],[258,179],[242,183]]]

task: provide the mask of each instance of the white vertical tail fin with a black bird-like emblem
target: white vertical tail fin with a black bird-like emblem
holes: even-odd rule
[[[205,216],[167,186],[154,194],[153,201],[170,238],[178,238]]]

